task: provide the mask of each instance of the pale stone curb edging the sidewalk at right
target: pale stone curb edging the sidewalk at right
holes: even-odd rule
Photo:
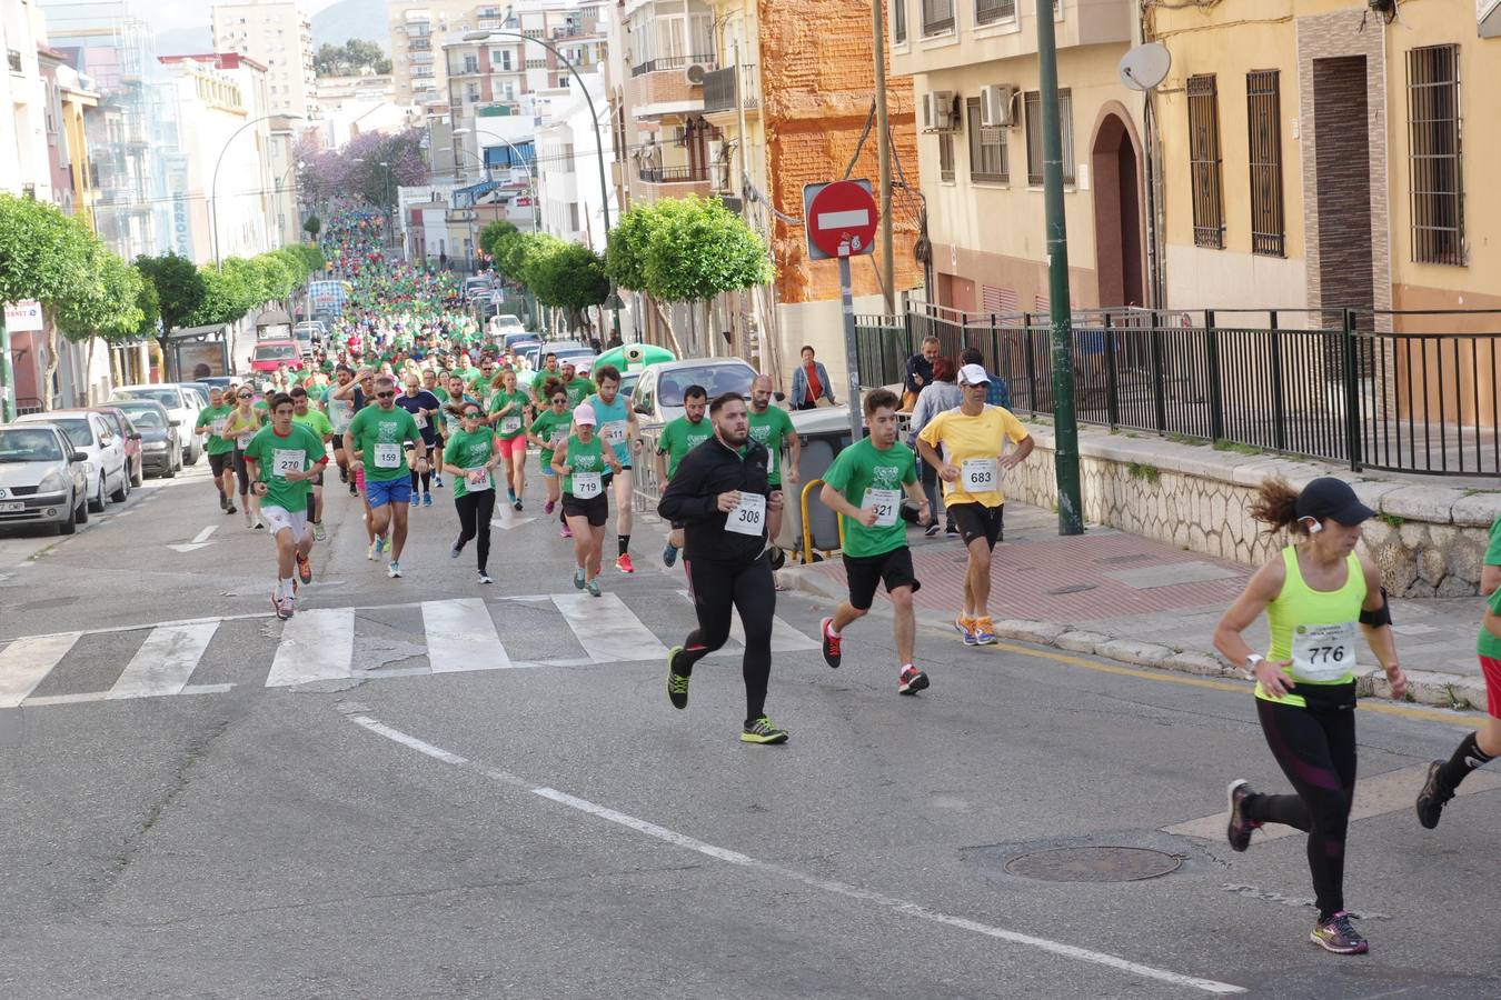
[[[805,567],[787,567],[776,571],[776,583],[784,591],[796,591],[824,601],[842,601],[845,592],[821,573],[805,573]],[[883,606],[880,613],[889,613]],[[872,609],[875,610],[875,609]],[[919,621],[931,625],[947,625],[947,615],[917,612]],[[1111,636],[1058,622],[1039,622],[1022,618],[1006,618],[995,622],[995,634],[1001,639],[1027,642],[1034,646],[1052,646],[1066,652],[1078,652],[1103,660],[1114,660],[1132,667],[1172,670],[1201,678],[1226,678],[1246,681],[1237,669],[1228,666],[1217,652],[1199,649],[1175,649],[1127,636]],[[1408,694],[1405,702],[1451,709],[1454,712],[1477,712],[1486,708],[1486,682],[1483,678],[1468,678],[1436,670],[1408,670]],[[1355,693],[1360,697],[1391,697],[1385,673],[1373,669],[1355,678]]]

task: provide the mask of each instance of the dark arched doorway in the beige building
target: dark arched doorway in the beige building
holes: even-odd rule
[[[1094,268],[1100,306],[1145,306],[1141,159],[1121,112],[1106,111],[1094,129]]]

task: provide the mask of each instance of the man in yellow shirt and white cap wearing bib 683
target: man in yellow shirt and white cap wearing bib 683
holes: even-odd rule
[[[970,550],[964,577],[964,612],[953,619],[953,627],[964,636],[967,646],[995,643],[995,624],[991,621],[991,552],[1006,519],[1001,472],[1025,460],[1034,444],[1012,411],[985,405],[989,381],[983,367],[965,364],[959,369],[964,402],[958,409],[934,417],[917,435],[917,451],[923,462],[938,469],[938,478],[944,483],[944,508],[953,514],[959,537]],[[1016,447],[1000,454],[1006,438]]]

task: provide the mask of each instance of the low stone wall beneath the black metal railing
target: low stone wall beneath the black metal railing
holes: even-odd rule
[[[1037,450],[1006,474],[1006,493],[1037,507],[1057,505],[1052,427],[1028,424]],[[1267,454],[1216,451],[1160,438],[1079,432],[1084,519],[1246,565],[1259,565],[1288,543],[1250,519],[1256,487],[1271,475],[1301,487],[1337,475],[1378,517],[1361,546],[1396,597],[1465,597],[1480,583],[1501,490],[1457,489],[1354,474],[1348,468]],[[1493,486],[1490,483],[1489,486]]]

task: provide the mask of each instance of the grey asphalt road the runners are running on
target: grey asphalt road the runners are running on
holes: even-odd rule
[[[201,466],[69,540],[0,532],[0,996],[1501,996],[1501,792],[1426,832],[1400,774],[1463,717],[1361,712],[1372,954],[1337,958],[1301,837],[1166,829],[1234,777],[1285,790],[1244,687],[923,631],[934,687],[902,699],[886,621],[833,672],[785,594],[791,741],[741,745],[734,648],[686,712],[662,690],[692,613],[660,526],[590,604],[528,501],[482,588],[447,490],[401,580],[330,490],[288,625]],[[1082,853],[1007,868],[1054,849]]]

